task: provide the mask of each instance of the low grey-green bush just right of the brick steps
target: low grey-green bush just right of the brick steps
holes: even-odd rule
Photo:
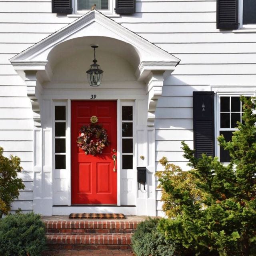
[[[132,236],[132,250],[136,256],[174,256],[175,246],[158,230],[159,219],[148,218],[138,224]]]

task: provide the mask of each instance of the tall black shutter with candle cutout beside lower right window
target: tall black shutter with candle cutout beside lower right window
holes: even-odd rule
[[[193,92],[195,157],[214,156],[214,92]]]

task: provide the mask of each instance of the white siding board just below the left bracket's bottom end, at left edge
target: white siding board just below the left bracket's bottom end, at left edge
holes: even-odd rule
[[[11,130],[2,130],[0,132],[0,144],[1,141],[20,141],[20,140],[33,140],[33,131],[17,130],[15,132]]]

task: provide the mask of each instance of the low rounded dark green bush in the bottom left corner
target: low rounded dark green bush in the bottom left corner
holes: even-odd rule
[[[39,256],[45,244],[45,226],[39,214],[10,214],[0,220],[1,256]]]

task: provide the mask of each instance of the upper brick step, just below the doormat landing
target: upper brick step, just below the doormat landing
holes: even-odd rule
[[[138,222],[129,221],[45,221],[46,234],[129,234]]]

